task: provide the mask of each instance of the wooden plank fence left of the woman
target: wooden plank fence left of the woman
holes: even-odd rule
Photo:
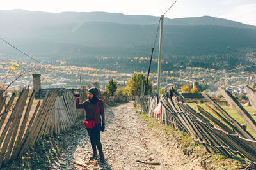
[[[41,138],[66,132],[83,112],[76,111],[76,101],[70,92],[47,92],[44,99],[31,110],[35,90],[29,96],[29,87],[22,89],[9,101],[0,92],[0,167],[16,159]],[[28,101],[28,103],[27,103]]]

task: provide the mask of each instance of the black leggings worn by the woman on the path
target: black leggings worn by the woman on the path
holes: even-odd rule
[[[96,152],[96,146],[98,148],[99,153],[102,152],[102,145],[100,142],[100,130],[101,130],[101,124],[95,124],[95,127],[89,129],[87,128],[87,132],[90,136],[90,141],[92,145],[93,152]]]

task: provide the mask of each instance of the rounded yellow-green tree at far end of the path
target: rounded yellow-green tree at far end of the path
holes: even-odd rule
[[[129,96],[133,96],[135,92],[141,94],[141,81],[144,85],[147,81],[147,77],[140,73],[133,74],[131,78],[129,78],[126,82],[127,94]],[[152,92],[152,89],[152,84],[150,83],[150,80],[148,80],[146,94],[148,94],[148,92]]]

